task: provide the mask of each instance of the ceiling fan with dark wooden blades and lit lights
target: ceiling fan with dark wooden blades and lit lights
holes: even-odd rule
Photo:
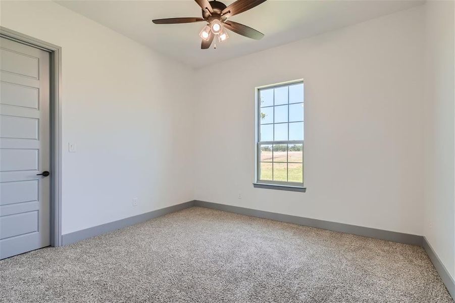
[[[212,45],[215,36],[218,37],[218,40],[220,42],[229,38],[226,29],[251,39],[260,40],[262,37],[264,37],[264,34],[257,31],[256,29],[234,21],[228,21],[227,18],[252,9],[265,2],[266,0],[237,0],[228,7],[216,0],[210,2],[208,0],[194,1],[202,9],[202,18],[167,18],[155,19],[152,20],[152,22],[155,24],[207,22],[208,24],[199,33],[199,36],[202,38],[202,43],[200,44],[200,48],[202,49],[209,48],[210,45]]]

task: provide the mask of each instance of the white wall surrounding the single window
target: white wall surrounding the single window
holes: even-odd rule
[[[195,198],[421,235],[423,46],[421,6],[199,70]],[[253,188],[255,87],[300,78],[307,192]]]

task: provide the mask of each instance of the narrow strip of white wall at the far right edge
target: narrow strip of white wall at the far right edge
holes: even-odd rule
[[[424,235],[455,278],[454,2],[426,4]]]

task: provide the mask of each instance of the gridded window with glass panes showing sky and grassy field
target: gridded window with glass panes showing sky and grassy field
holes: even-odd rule
[[[304,83],[258,89],[255,187],[305,191]]]

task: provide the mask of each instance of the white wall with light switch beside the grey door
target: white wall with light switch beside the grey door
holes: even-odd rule
[[[63,48],[64,234],[193,198],[190,69],[53,2],[0,24]]]

